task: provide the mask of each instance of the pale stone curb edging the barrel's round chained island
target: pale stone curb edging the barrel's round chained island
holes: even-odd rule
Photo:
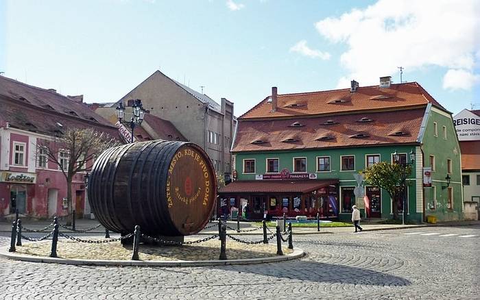
[[[228,255],[228,252],[227,252]],[[271,258],[250,258],[241,260],[69,260],[66,258],[47,258],[8,252],[7,248],[0,248],[0,257],[23,262],[43,262],[47,264],[72,264],[82,266],[227,266],[233,264],[268,264],[272,262],[286,262],[302,258],[305,252],[293,248],[287,255],[278,255]]]

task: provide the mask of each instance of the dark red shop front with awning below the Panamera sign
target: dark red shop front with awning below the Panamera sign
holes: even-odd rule
[[[217,215],[261,220],[307,216],[338,217],[337,180],[237,181],[219,190]]]

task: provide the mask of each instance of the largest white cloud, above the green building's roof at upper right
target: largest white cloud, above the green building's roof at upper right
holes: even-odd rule
[[[471,88],[453,78],[459,70],[473,76],[478,64],[479,15],[475,0],[379,0],[363,10],[324,18],[315,27],[327,40],[348,46],[340,57],[348,75],[339,87],[347,87],[350,79],[363,86],[377,84],[381,76],[398,79],[398,66],[405,68],[404,80],[414,81],[409,71],[441,66],[454,71],[444,88]]]

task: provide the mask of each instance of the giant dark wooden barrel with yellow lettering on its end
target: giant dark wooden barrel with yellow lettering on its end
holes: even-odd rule
[[[101,225],[128,234],[196,234],[215,207],[217,180],[202,148],[153,140],[110,148],[88,177],[88,201]]]

